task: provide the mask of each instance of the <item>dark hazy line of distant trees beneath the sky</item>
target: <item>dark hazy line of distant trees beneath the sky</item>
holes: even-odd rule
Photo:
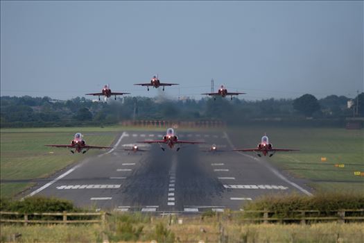
[[[345,119],[354,115],[356,106],[358,116],[364,117],[364,93],[356,98],[354,106],[347,108],[347,97],[330,95],[318,100],[311,94],[297,99],[261,101],[125,97],[123,102],[121,99],[94,102],[80,97],[67,101],[54,101],[50,97],[1,97],[1,127],[102,126],[130,119],[222,120],[228,124],[274,119],[297,121],[308,117]]]

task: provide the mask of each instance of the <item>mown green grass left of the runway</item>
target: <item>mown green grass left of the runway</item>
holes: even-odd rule
[[[69,131],[67,130],[69,129]],[[109,146],[117,133],[103,132],[102,128],[52,128],[51,131],[34,129],[1,129],[1,180],[30,180],[46,178],[67,165],[102,151],[71,154],[68,149],[46,147],[44,144],[69,144],[74,133],[85,135],[87,144]],[[15,196],[33,183],[1,183],[0,196]]]

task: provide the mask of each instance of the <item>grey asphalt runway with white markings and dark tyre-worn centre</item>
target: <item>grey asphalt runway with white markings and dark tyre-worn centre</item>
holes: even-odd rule
[[[143,146],[149,150],[146,152],[123,150],[162,135],[151,131],[120,133],[114,149],[39,181],[28,196],[55,196],[76,206],[123,212],[193,213],[239,210],[243,203],[263,194],[310,194],[304,181],[282,174],[269,164],[269,158],[230,151],[234,145],[223,132],[177,133],[180,140],[206,142],[184,145],[180,151],[162,151],[158,144]],[[226,152],[206,152],[211,144]]]

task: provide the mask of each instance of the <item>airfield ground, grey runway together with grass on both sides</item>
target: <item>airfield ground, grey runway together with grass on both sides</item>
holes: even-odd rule
[[[145,153],[128,154],[122,150],[125,144],[156,139],[164,134],[164,129],[144,130],[2,129],[1,196],[14,196],[33,185],[31,190],[20,194],[20,197],[26,196],[52,182],[37,194],[70,199],[77,206],[129,212],[202,212],[211,208],[239,210],[245,201],[270,193],[304,194],[338,189],[362,192],[364,178],[354,176],[354,171],[364,171],[363,131],[340,128],[262,131],[259,127],[249,127],[230,128],[225,133],[180,128],[177,129],[180,139],[205,140],[207,144],[185,146],[178,152],[169,149],[163,152],[158,145],[150,146],[150,151]],[[85,155],[43,146],[67,143],[76,131],[82,132],[89,144],[120,142],[111,153],[89,151]],[[265,132],[273,146],[298,147],[302,151],[277,153],[272,158],[201,151],[213,143],[225,150],[232,146],[254,147]],[[327,157],[327,161],[321,162],[321,157]],[[345,167],[335,167],[335,164],[345,164]]]

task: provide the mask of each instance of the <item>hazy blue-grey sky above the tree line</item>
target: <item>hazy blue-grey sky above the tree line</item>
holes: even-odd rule
[[[69,99],[159,74],[196,99],[363,91],[363,1],[1,1],[1,95]],[[91,98],[91,97],[89,97]]]

